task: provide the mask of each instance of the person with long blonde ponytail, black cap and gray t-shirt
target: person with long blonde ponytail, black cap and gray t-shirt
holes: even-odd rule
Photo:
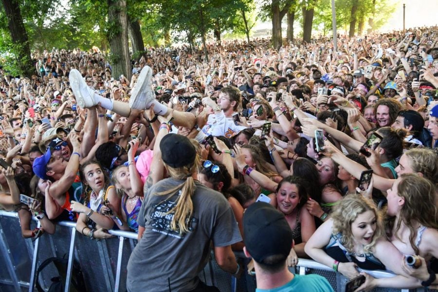
[[[224,196],[196,181],[200,159],[187,137],[167,134],[159,147],[169,178],[145,193],[137,219],[140,240],[128,262],[128,291],[219,291],[198,274],[211,241],[224,271],[243,270],[231,250],[242,240],[233,211]]]

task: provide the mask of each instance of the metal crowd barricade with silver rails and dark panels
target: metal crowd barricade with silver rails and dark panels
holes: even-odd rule
[[[32,228],[39,222],[34,219]],[[35,291],[38,280],[41,287],[47,291],[51,278],[58,275],[55,266],[44,271],[36,279],[39,264],[52,256],[68,256],[68,268],[65,291],[70,291],[73,261],[77,261],[83,272],[89,291],[126,291],[126,275],[129,255],[137,243],[137,234],[128,231],[110,230],[113,238],[105,240],[90,240],[80,234],[76,236],[76,224],[71,221],[57,223],[54,235],[43,234],[35,241],[21,237],[18,222],[18,213],[0,211],[0,286],[1,291]],[[216,263],[214,256],[200,278],[207,285],[215,285],[221,292],[248,291],[253,292],[255,277],[247,274],[246,263],[248,259],[243,253],[236,256],[244,263],[245,276],[236,280],[230,274],[222,271]],[[4,267],[4,268],[3,268]],[[49,268],[50,267],[50,268]],[[47,271],[46,271],[47,270]],[[329,267],[310,259],[299,259],[296,267],[290,268],[296,274],[320,274],[329,280],[330,285],[337,292],[345,290],[347,278],[334,272]],[[364,271],[373,277],[391,277],[386,271]],[[424,291],[383,289],[376,288],[372,291]]]

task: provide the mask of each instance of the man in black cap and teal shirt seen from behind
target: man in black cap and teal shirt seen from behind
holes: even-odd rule
[[[245,256],[256,270],[256,292],[333,291],[322,276],[289,272],[286,259],[293,246],[292,230],[283,214],[265,202],[255,202],[243,215]]]

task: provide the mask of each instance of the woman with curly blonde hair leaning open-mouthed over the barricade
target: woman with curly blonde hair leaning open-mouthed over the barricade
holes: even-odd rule
[[[330,219],[310,237],[305,252],[314,260],[352,279],[357,268],[390,270],[398,276],[367,281],[357,291],[373,287],[413,288],[420,281],[406,277],[400,262],[402,254],[386,240],[382,217],[373,201],[362,195],[348,195],[334,207]]]

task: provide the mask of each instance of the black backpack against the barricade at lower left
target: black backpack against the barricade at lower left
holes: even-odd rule
[[[58,270],[59,275],[51,279],[52,284],[49,287],[49,292],[63,292],[65,290],[65,279],[67,278],[67,266],[69,260],[63,257],[49,257],[48,259],[43,261],[37,269],[36,282],[37,282],[38,292],[44,292],[44,290],[41,288],[41,285],[39,285],[38,282],[39,273],[52,262],[55,264],[56,270]],[[87,288],[85,286],[84,275],[82,274],[82,270],[79,264],[75,260],[73,260],[70,291],[72,292],[87,291]]]

